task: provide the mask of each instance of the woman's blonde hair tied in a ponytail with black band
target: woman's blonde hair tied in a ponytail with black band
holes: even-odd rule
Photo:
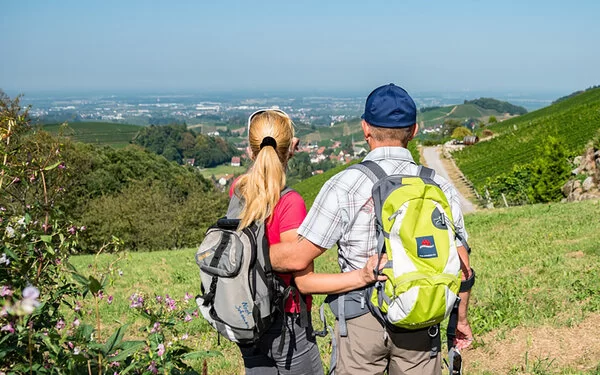
[[[240,230],[273,215],[285,187],[285,168],[294,137],[292,121],[283,112],[267,110],[251,119],[248,140],[254,164],[236,184],[236,191],[244,201]]]

